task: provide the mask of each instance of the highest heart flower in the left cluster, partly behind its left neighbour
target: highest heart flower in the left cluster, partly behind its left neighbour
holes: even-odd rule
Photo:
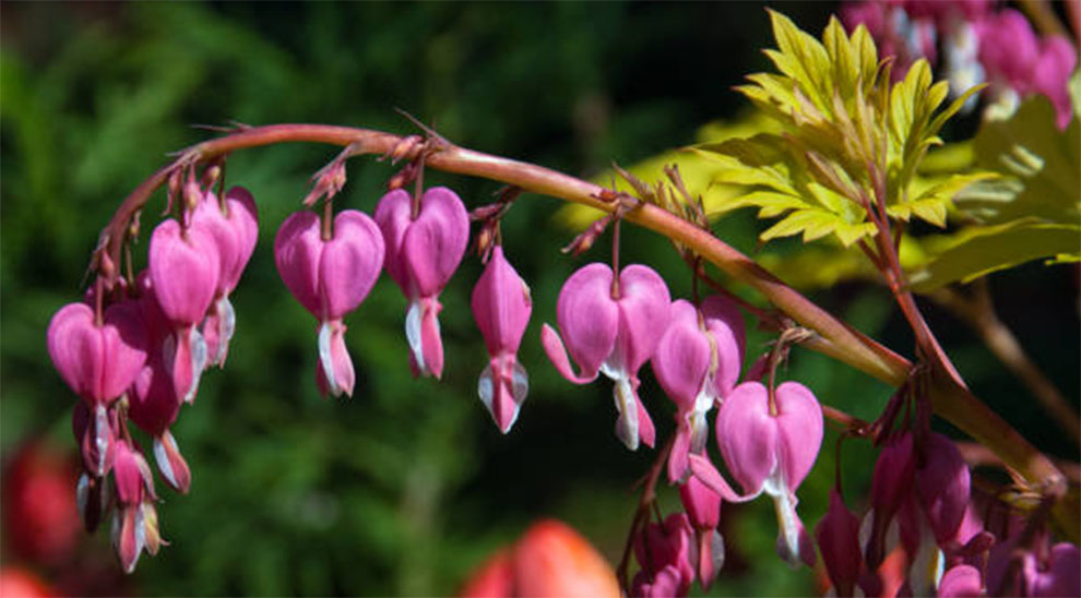
[[[192,213],[192,223],[211,232],[221,258],[214,302],[203,321],[202,334],[210,363],[224,366],[236,327],[236,313],[229,294],[240,282],[259,237],[256,201],[241,187],[229,189],[224,202],[207,191]]]

